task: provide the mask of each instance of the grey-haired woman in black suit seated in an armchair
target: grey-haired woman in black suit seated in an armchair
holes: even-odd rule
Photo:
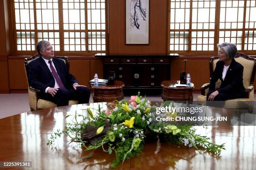
[[[219,61],[210,77],[210,90],[207,100],[223,101],[245,97],[243,87],[243,65],[236,62],[236,45],[223,42],[218,44]],[[215,90],[215,82],[221,80],[220,88]]]

